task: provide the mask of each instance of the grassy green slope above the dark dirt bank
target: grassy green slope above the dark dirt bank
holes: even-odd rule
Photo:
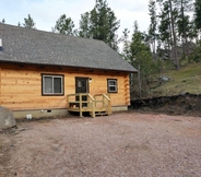
[[[150,96],[172,96],[185,93],[201,94],[201,63],[181,67],[179,71],[169,70],[161,74],[161,80],[152,85]]]

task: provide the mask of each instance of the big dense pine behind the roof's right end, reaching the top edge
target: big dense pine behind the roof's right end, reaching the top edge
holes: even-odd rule
[[[106,0],[96,0],[94,9],[81,15],[80,36],[105,42],[113,49],[118,49],[117,31],[120,21],[108,8]]]

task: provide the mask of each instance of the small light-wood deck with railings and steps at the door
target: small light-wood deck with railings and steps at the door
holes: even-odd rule
[[[111,115],[111,103],[108,94],[70,94],[67,95],[68,110],[79,111],[80,117],[87,111],[92,117]]]

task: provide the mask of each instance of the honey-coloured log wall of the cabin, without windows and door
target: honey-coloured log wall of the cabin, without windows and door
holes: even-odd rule
[[[42,95],[42,73],[64,74],[63,96]],[[110,94],[111,106],[130,104],[129,74],[67,67],[0,63],[0,103],[12,110],[66,109],[67,95],[75,93],[75,76],[91,78],[90,93],[107,93],[107,79],[118,80],[118,93]]]

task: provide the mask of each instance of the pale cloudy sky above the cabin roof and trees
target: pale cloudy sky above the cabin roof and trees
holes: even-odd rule
[[[133,23],[138,21],[139,30],[146,32],[150,25],[149,0],[106,0],[108,7],[120,20],[119,36],[128,28],[133,32]],[[71,17],[79,28],[81,14],[90,12],[95,5],[95,0],[0,0],[0,21],[5,24],[17,25],[24,23],[24,17],[31,14],[36,23],[36,28],[51,32],[56,21],[66,14]]]

